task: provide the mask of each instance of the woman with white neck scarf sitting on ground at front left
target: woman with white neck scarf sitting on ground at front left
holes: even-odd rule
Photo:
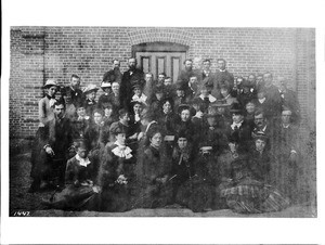
[[[77,154],[67,162],[65,189],[54,193],[46,206],[70,210],[92,210],[100,188],[94,184],[95,171],[88,158],[88,150],[83,141],[76,143]]]

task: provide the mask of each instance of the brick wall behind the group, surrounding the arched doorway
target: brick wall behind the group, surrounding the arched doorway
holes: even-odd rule
[[[12,27],[10,136],[34,136],[37,103],[48,78],[68,83],[72,74],[82,86],[100,85],[113,59],[122,70],[132,46],[168,41],[190,47],[187,56],[224,57],[229,70],[246,76],[272,72],[298,91],[303,128],[315,128],[314,29],[301,28],[169,28],[169,27]]]

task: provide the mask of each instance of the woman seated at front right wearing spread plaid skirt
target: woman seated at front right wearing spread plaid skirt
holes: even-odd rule
[[[230,144],[230,147],[231,155],[225,152],[219,157],[222,181],[220,195],[226,206],[242,214],[280,211],[288,207],[288,198],[265,183],[268,168],[263,163],[253,166],[247,155],[237,152],[236,143]]]

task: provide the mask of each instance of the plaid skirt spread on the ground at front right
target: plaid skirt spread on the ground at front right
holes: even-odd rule
[[[221,197],[225,198],[229,208],[240,214],[280,211],[290,204],[275,188],[249,179],[223,185]]]

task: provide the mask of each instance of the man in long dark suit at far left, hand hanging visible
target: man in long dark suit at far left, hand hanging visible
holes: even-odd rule
[[[65,104],[54,104],[54,118],[38,132],[38,140],[31,153],[31,172],[34,179],[29,192],[47,188],[64,186],[68,149],[73,143],[70,120],[65,117]]]

